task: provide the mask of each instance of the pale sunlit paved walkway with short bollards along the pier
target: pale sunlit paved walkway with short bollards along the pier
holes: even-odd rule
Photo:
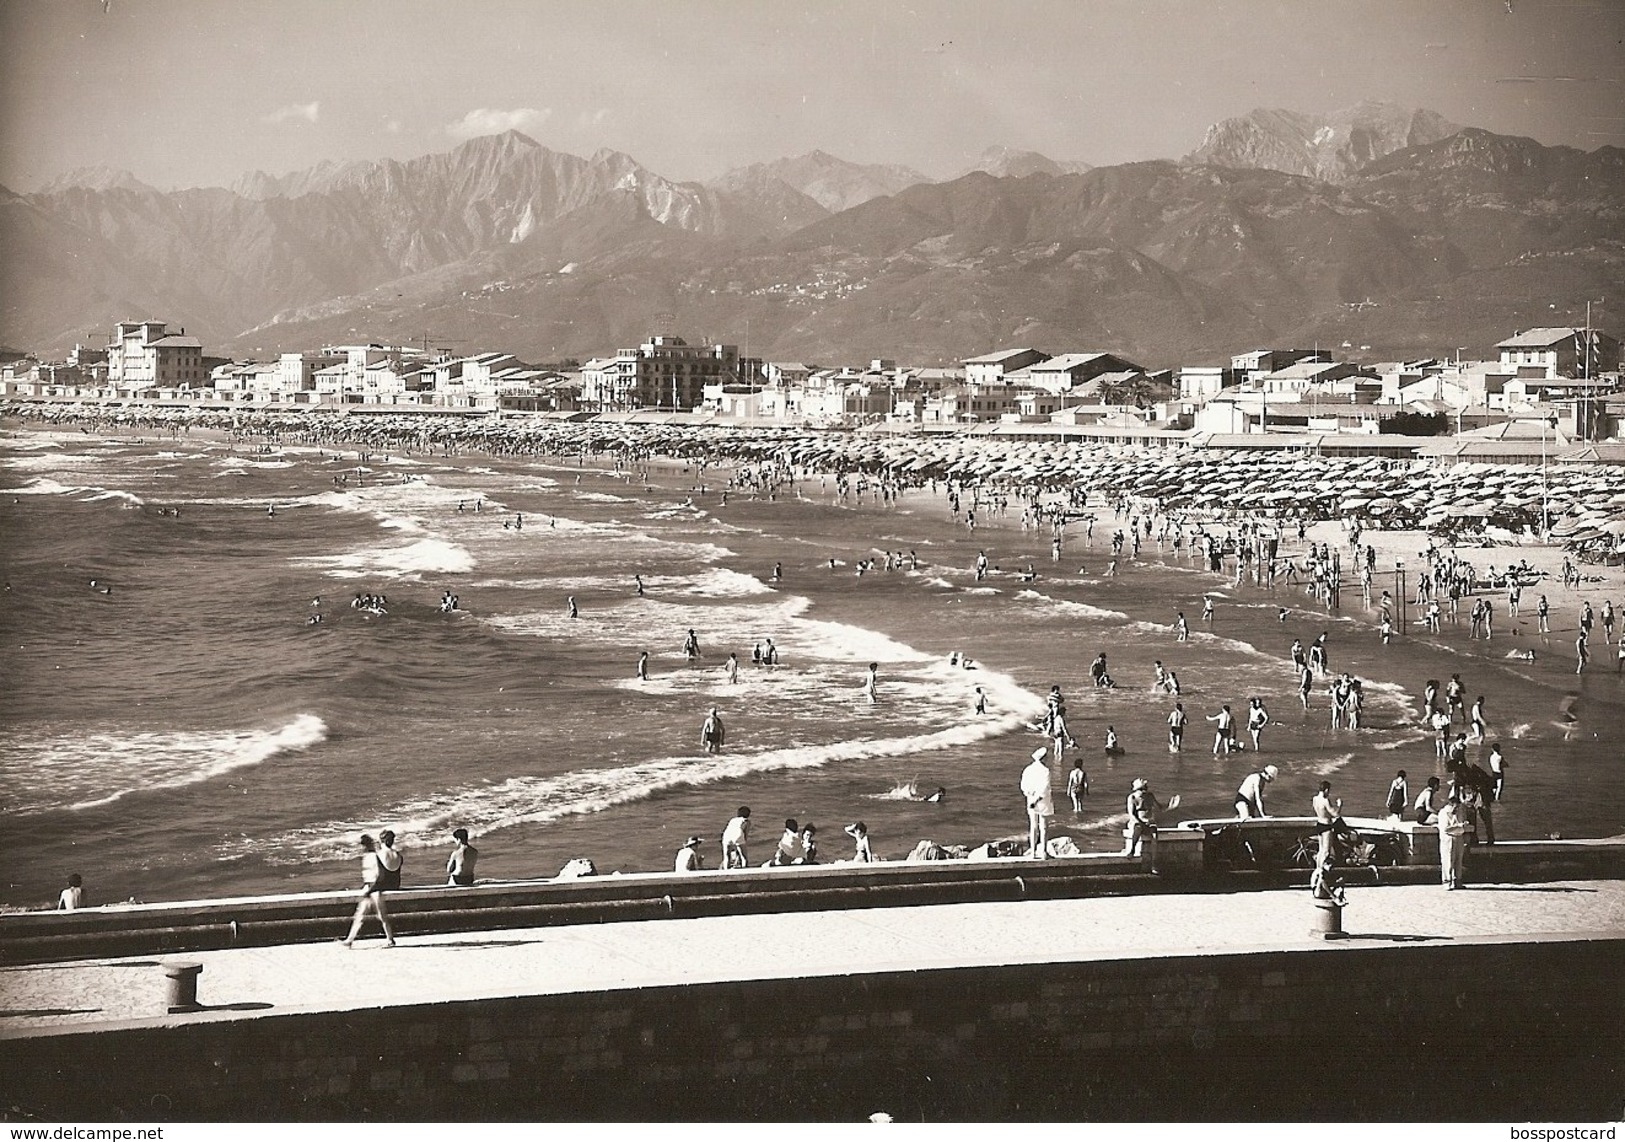
[[[364,939],[167,957],[203,965],[188,1015],[162,1012],[158,958],[0,968],[0,1036],[122,1020],[257,1019],[514,994],[1092,958],[1306,950],[1415,939],[1625,936],[1625,882],[1355,889],[1349,941],[1310,936],[1305,890],[1103,897],[661,919]],[[333,932],[346,923],[335,916]],[[369,919],[367,932],[375,932]],[[385,957],[379,960],[377,957]]]

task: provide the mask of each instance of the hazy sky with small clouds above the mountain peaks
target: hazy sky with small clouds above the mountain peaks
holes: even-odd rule
[[[673,179],[822,148],[1175,158],[1365,97],[1625,145],[1625,0],[0,0],[0,184],[162,188],[518,127]]]

